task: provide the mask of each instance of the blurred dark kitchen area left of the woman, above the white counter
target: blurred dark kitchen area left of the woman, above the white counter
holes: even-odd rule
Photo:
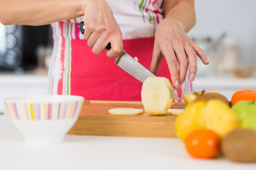
[[[47,72],[53,48],[52,29],[46,26],[3,26],[0,23],[0,72]]]

